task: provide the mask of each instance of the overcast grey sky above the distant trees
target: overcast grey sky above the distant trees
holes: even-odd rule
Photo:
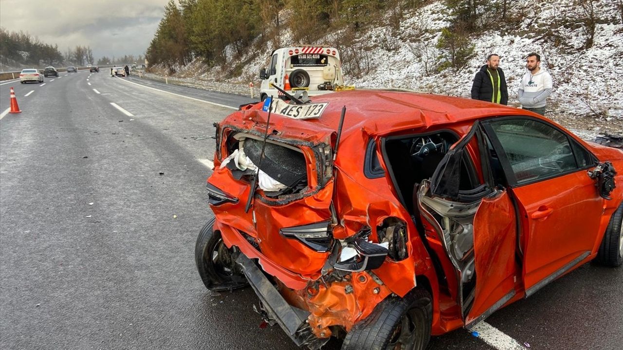
[[[76,45],[102,56],[144,55],[168,0],[0,0],[0,26],[24,31],[65,54]]]

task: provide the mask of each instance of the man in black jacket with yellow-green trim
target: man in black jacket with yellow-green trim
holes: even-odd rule
[[[499,55],[490,54],[487,56],[487,64],[480,67],[473,78],[472,98],[474,100],[508,105],[506,78],[499,65]]]

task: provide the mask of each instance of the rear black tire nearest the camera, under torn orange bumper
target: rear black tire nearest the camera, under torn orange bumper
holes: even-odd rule
[[[341,350],[423,350],[431,326],[430,294],[416,288],[404,298],[392,296],[377,305],[346,334]]]

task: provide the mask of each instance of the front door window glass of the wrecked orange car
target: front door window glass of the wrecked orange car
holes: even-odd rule
[[[568,136],[551,125],[523,118],[492,121],[490,125],[506,153],[517,184],[582,167],[576,162]]]

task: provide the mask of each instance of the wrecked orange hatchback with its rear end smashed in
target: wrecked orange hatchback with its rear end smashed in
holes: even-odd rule
[[[590,260],[623,261],[621,149],[463,98],[292,100],[215,124],[196,263],[209,290],[253,288],[298,346],[424,349]]]

